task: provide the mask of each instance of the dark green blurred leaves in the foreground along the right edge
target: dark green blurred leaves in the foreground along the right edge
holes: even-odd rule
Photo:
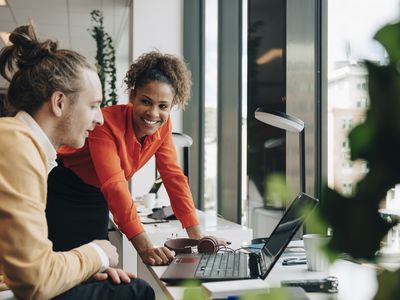
[[[379,214],[386,192],[400,182],[400,23],[380,29],[375,39],[389,55],[387,65],[366,61],[370,107],[364,123],[349,133],[351,159],[364,159],[369,173],[356,192],[344,197],[325,186],[320,217],[333,230],[329,248],[355,259],[374,261],[393,226]],[[400,299],[400,273],[382,271],[375,299]]]

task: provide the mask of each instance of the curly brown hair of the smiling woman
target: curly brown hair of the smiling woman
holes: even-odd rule
[[[183,59],[159,51],[138,57],[126,73],[128,89],[135,91],[151,81],[171,85],[175,91],[172,106],[185,108],[192,87],[192,74]]]

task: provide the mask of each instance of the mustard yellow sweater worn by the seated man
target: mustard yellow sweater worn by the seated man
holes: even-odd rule
[[[84,245],[53,252],[45,217],[47,157],[31,130],[0,118],[0,273],[21,299],[50,299],[101,268]]]

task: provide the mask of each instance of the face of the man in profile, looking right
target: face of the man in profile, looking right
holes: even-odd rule
[[[73,148],[83,147],[89,131],[104,122],[100,109],[101,83],[97,73],[83,69],[81,86],[73,103],[69,101],[67,113],[60,122],[59,144]]]

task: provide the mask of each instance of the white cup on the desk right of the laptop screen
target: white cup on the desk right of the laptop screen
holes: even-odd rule
[[[323,272],[329,268],[329,260],[322,250],[330,236],[325,234],[305,234],[303,235],[304,249],[306,251],[307,268],[309,271]]]

